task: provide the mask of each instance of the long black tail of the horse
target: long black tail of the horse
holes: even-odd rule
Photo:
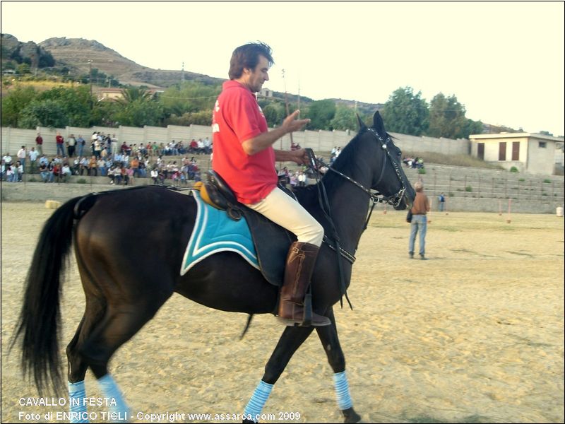
[[[61,274],[73,239],[76,197],[57,208],[41,232],[25,283],[23,307],[10,348],[22,337],[21,365],[40,393],[63,387],[59,358]]]

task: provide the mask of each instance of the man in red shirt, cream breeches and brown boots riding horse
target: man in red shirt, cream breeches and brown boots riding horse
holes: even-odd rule
[[[212,167],[230,186],[237,200],[294,233],[287,254],[280,290],[278,317],[285,325],[304,322],[304,294],[310,284],[323,240],[323,227],[297,201],[277,187],[275,161],[307,163],[303,148],[280,151],[273,144],[309,119],[290,114],[281,126],[268,131],[267,121],[254,93],[258,93],[274,63],[271,49],[261,42],[237,47],[230,61],[230,81],[222,87],[213,112],[214,158]],[[312,312],[311,325],[331,324]]]

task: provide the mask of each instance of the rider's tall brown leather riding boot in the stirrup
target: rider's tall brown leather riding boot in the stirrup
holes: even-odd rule
[[[290,245],[285,269],[285,282],[280,288],[278,317],[286,325],[304,323],[304,293],[316,264],[319,247],[310,243],[294,242]],[[330,325],[327,317],[312,312],[312,326]]]

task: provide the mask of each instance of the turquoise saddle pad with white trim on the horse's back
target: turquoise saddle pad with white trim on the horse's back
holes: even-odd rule
[[[220,211],[206,204],[198,190],[192,190],[197,212],[194,230],[186,246],[182,260],[181,275],[184,276],[194,265],[218,252],[236,252],[259,269],[257,253],[251,231],[242,217],[234,221],[226,211]]]

